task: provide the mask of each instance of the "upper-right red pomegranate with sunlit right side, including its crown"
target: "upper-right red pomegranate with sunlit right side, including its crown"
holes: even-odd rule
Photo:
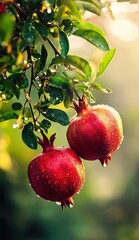
[[[111,153],[119,148],[123,139],[122,120],[119,113],[108,105],[90,107],[83,97],[79,104],[73,101],[77,114],[67,129],[70,147],[83,159],[99,159],[108,165]]]

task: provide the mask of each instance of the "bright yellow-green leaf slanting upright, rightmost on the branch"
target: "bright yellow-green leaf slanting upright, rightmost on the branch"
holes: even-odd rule
[[[97,77],[99,77],[107,68],[109,65],[110,61],[112,60],[114,54],[115,54],[116,49],[111,49],[110,51],[106,52],[106,54],[103,56],[99,63],[98,67],[98,72],[97,72]]]

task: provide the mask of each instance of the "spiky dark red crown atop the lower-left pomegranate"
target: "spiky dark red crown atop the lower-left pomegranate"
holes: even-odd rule
[[[43,152],[47,152],[50,149],[54,148],[54,140],[55,140],[55,133],[50,137],[50,140],[47,138],[47,136],[42,132],[43,139],[39,138],[38,143],[42,146]]]

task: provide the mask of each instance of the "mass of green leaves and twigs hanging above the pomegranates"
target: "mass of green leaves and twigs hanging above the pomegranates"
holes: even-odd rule
[[[2,104],[10,101],[11,108],[1,114],[0,122],[16,119],[13,127],[20,128],[25,144],[36,149],[37,132],[48,133],[51,121],[69,124],[66,108],[73,99],[85,95],[94,102],[94,89],[110,92],[94,81],[107,68],[115,50],[109,49],[99,27],[83,20],[85,11],[101,15],[99,1],[2,2],[0,100]],[[86,59],[70,55],[70,35],[104,51],[97,73]]]

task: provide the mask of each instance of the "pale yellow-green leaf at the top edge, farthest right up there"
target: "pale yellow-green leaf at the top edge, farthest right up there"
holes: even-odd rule
[[[89,11],[97,15],[100,15],[101,13],[101,9],[96,3],[91,3],[86,1],[76,1],[76,3],[79,5],[79,7],[82,6],[85,11]]]

